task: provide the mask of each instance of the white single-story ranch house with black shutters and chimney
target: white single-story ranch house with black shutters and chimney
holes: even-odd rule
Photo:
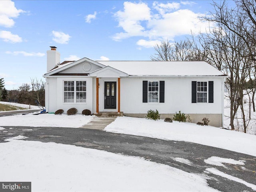
[[[46,111],[75,107],[78,113],[116,112],[145,117],[158,110],[160,118],[179,111],[192,122],[223,125],[226,75],[197,61],[94,61],[82,58],[60,64],[56,47],[47,51]]]

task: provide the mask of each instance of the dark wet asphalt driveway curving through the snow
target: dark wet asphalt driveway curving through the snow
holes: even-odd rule
[[[3,127],[6,129],[0,130],[0,142],[5,142],[4,140],[6,138],[24,135],[28,137],[25,140],[71,144],[129,156],[139,156],[152,162],[166,164],[186,172],[206,174],[209,177],[209,186],[224,192],[254,190],[240,182],[205,172],[206,168],[216,168],[223,173],[256,185],[256,157],[229,150],[190,142],[166,141],[84,128]],[[246,162],[242,166],[225,164],[226,168],[206,164],[204,160],[212,156],[245,160]],[[192,164],[188,165],[184,162],[178,162],[175,158],[190,160]]]

